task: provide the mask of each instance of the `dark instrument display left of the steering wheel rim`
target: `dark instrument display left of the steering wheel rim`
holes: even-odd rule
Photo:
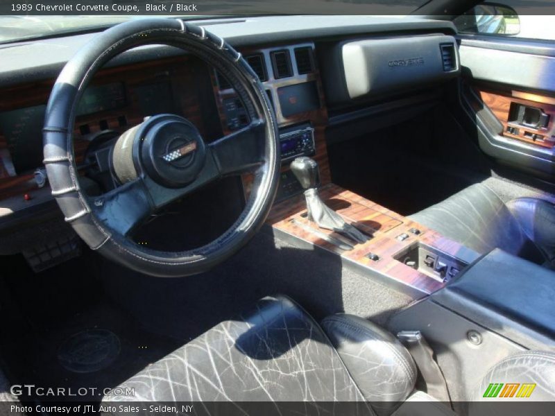
[[[20,108],[0,113],[0,136],[11,155],[14,172],[36,168],[42,162],[42,124],[46,105]],[[7,152],[2,159],[8,160]]]

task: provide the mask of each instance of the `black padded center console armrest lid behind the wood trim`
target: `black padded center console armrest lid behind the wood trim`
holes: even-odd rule
[[[432,300],[524,347],[555,346],[555,272],[495,249]]]

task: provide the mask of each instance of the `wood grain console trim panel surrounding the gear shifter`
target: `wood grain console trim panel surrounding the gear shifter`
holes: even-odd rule
[[[343,189],[336,184],[330,183],[321,187],[320,195],[345,220],[358,225],[366,231],[366,234],[371,234],[373,238],[364,244],[356,245],[354,250],[343,251],[337,248],[336,245],[319,239],[314,234],[296,226],[291,220],[294,219],[300,223],[305,223],[336,239],[343,239],[341,235],[325,229],[319,229],[314,223],[303,218],[303,215],[306,213],[306,205],[302,195],[275,205],[270,216],[268,216],[267,222],[275,229],[280,230],[280,232],[349,259],[363,268],[379,272],[388,279],[391,279],[391,281],[402,286],[408,286],[412,289],[412,292],[416,291],[420,295],[434,293],[443,288],[445,284],[394,259],[395,255],[407,249],[410,245],[420,241],[442,252],[451,254],[453,257],[459,257],[463,250],[471,253],[471,257],[478,257],[477,253],[471,252],[471,250],[464,248],[455,241],[446,239],[438,232],[415,223],[409,218],[367,200],[357,193]],[[420,230],[420,234],[415,235],[409,232],[409,229],[412,228]],[[399,241],[396,237],[400,234],[408,234],[409,238]],[[378,261],[368,259],[366,256],[370,252],[377,254],[380,259]]]

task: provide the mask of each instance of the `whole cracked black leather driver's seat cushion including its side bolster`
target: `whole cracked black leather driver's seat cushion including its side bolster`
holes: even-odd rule
[[[391,415],[416,377],[407,349],[368,320],[332,315],[321,327],[287,297],[266,297],[119,385],[134,395],[104,401],[340,401]]]

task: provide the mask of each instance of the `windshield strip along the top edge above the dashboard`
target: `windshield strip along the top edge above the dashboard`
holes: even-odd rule
[[[83,0],[82,3],[86,3]],[[155,0],[153,1],[155,3]],[[172,1],[164,1],[169,5]],[[198,3],[198,15],[175,13],[168,6],[163,12],[167,15],[156,17],[180,17],[186,19],[207,19],[209,17],[232,17],[233,15],[282,15],[285,10],[290,15],[408,15],[418,9],[427,0],[242,0],[229,2],[210,0]],[[148,14],[146,4],[137,1],[138,15],[40,15],[33,8],[30,15],[0,15],[0,43],[33,39],[36,37],[53,37],[64,33],[79,33],[108,28],[114,24],[131,19],[155,17]],[[152,6],[151,6],[152,7]],[[74,10],[73,8],[71,10]],[[111,9],[110,9],[111,10]],[[173,12],[171,12],[173,10]]]

